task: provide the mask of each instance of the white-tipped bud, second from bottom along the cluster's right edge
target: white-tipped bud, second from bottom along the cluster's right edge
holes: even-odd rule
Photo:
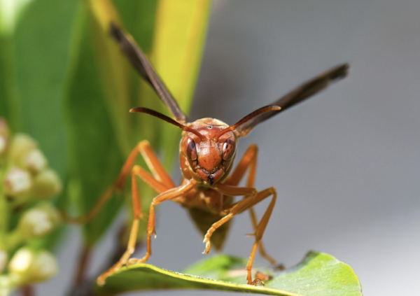
[[[23,213],[18,231],[23,239],[44,237],[60,222],[58,211],[50,204],[41,204]]]

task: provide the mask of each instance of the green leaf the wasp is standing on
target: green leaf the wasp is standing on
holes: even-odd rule
[[[300,264],[283,272],[258,269],[274,276],[265,286],[244,285],[245,266],[246,260],[227,255],[199,262],[183,274],[153,265],[130,265],[109,276],[97,291],[100,295],[151,289],[208,289],[281,296],[362,295],[353,269],[325,253],[309,253]]]

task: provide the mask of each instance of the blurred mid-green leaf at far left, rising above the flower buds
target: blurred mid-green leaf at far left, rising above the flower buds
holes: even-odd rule
[[[62,93],[75,2],[32,1],[14,36],[22,130],[38,141],[62,179],[68,166]]]

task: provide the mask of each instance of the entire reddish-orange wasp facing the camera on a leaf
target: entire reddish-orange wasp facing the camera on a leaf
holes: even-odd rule
[[[99,276],[97,283],[101,286],[104,285],[106,277],[116,272],[123,265],[144,263],[148,260],[152,254],[152,237],[153,234],[156,234],[155,206],[172,200],[188,209],[191,218],[193,218],[197,227],[204,234],[205,249],[203,253],[206,254],[210,252],[212,244],[216,249],[222,247],[231,219],[244,211],[249,211],[255,241],[246,265],[246,282],[250,285],[258,285],[258,279],[253,281],[251,274],[257,250],[270,263],[274,264],[275,262],[265,251],[262,244],[262,235],[272,215],[277,194],[274,187],[261,191],[255,189],[254,182],[258,155],[258,147],[255,144],[246,150],[234,168],[233,161],[236,156],[237,141],[239,138],[246,136],[260,122],[308,99],[325,89],[332,81],[344,78],[349,65],[342,64],[325,73],[321,73],[321,75],[303,83],[292,92],[274,101],[274,103],[249,113],[234,125],[228,125],[215,118],[202,118],[188,122],[186,115],[181,111],[176,100],[172,97],[172,94],[132,36],[125,33],[116,24],[111,24],[111,36],[118,43],[127,59],[130,60],[134,69],[137,70],[140,76],[146,80],[162,99],[163,103],[165,103],[172,114],[172,118],[143,107],[132,108],[130,112],[153,115],[183,130],[179,146],[179,162],[183,178],[181,185],[176,186],[153,152],[148,141],[141,141],[127,157],[115,183],[106,190],[94,208],[83,217],[66,217],[66,220],[73,223],[83,223],[92,219],[102,205],[111,197],[112,192],[123,188],[127,177],[131,174],[134,220],[130,230],[127,249],[113,267]],[[151,173],[134,164],[139,153],[144,157]],[[244,178],[246,171],[248,171],[246,186],[239,187],[238,185]],[[153,199],[149,209],[146,254],[141,259],[130,259],[136,244],[139,220],[143,218],[137,178],[140,178],[153,188],[158,193],[158,196]],[[237,196],[242,196],[243,199],[235,202],[234,197]],[[258,221],[253,206],[268,197],[271,197],[271,201],[264,215]]]

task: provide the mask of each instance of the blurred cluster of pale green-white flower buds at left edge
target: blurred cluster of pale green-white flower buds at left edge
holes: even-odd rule
[[[0,118],[0,296],[57,274],[54,255],[39,242],[60,223],[50,199],[61,189],[36,142],[10,135]]]

